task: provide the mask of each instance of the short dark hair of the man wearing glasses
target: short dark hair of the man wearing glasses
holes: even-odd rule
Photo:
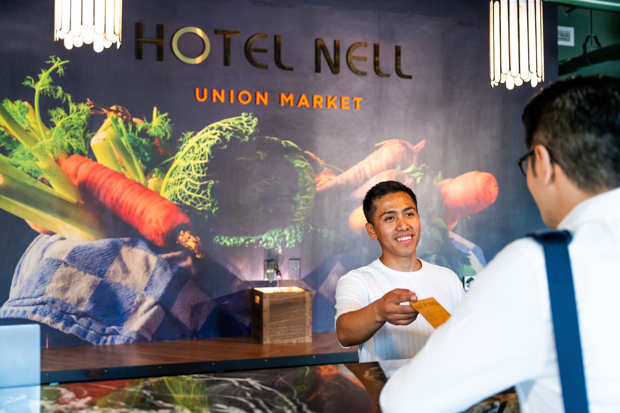
[[[534,95],[522,120],[528,149],[544,145],[579,189],[620,186],[620,79],[555,82]]]

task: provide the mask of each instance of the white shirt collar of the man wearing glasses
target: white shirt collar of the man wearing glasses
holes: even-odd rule
[[[600,193],[575,205],[557,229],[576,231],[580,224],[588,221],[617,221],[620,205],[620,187]]]

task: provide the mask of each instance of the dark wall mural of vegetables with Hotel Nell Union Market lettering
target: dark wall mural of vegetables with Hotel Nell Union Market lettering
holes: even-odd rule
[[[91,50],[50,43],[29,53],[27,66],[38,73],[14,71],[22,78],[1,85],[0,208],[11,214],[2,225],[25,220],[33,231],[11,269],[0,324],[39,322],[48,346],[249,335],[249,288],[278,283],[312,290],[314,331],[333,330],[338,278],[379,254],[361,200],[383,180],[417,194],[424,228],[418,257],[465,277],[501,247],[483,251],[484,231],[472,228],[498,221],[494,203],[505,189],[495,175],[505,161],[449,158],[449,146],[484,150],[490,135],[475,136],[480,129],[470,123],[457,138],[446,113],[470,100],[463,91],[446,93],[455,84],[441,73],[430,79],[446,82],[443,91],[420,81],[441,66],[418,58],[422,34],[457,24],[235,3],[246,6],[241,20],[223,4],[196,4],[215,16],[203,21],[213,26],[204,37],[180,29],[193,27],[187,12],[173,18],[155,9],[139,28],[164,22],[167,33],[184,30],[172,47],[136,37],[123,43],[123,55],[95,56],[140,72],[112,70],[102,80],[83,55]],[[273,18],[259,24],[253,13]],[[314,23],[306,28],[311,34],[282,23],[304,15]],[[330,26],[336,20],[342,24]],[[247,30],[221,29],[244,24]],[[380,30],[389,25],[401,29]],[[250,36],[253,30],[288,36]],[[484,26],[459,30],[473,39]],[[244,47],[239,32],[250,36]],[[381,56],[379,44],[386,47]],[[262,54],[272,48],[275,66]],[[182,59],[200,53],[197,64]],[[69,75],[80,71],[91,74]],[[122,79],[118,86],[115,79]],[[24,90],[15,92],[22,81]],[[533,225],[536,219],[526,216]],[[281,280],[263,281],[267,259],[277,262]],[[286,270],[289,259],[301,260],[299,278]]]

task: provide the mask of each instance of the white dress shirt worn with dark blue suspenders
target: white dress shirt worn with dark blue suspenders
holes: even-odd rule
[[[620,189],[559,224],[569,245],[591,413],[620,412]],[[563,412],[542,246],[511,242],[452,317],[387,381],[383,413],[461,412],[516,385],[522,413]]]

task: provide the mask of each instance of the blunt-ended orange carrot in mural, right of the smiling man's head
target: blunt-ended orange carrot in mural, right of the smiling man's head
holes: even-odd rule
[[[489,172],[466,172],[456,178],[444,179],[437,185],[446,204],[443,221],[448,229],[454,228],[461,218],[489,207],[497,199],[497,180]]]

